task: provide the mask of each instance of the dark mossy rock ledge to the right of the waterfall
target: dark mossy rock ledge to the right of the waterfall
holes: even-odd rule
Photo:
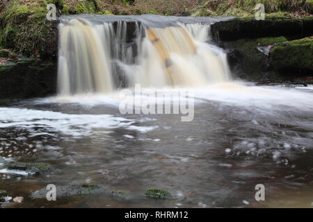
[[[257,82],[312,83],[313,17],[232,19],[211,26],[234,76]]]

